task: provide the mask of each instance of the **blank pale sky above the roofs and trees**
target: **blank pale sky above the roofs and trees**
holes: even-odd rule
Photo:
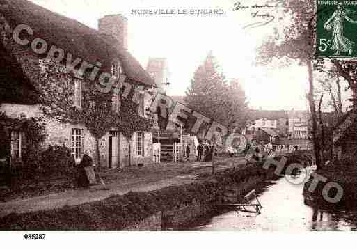
[[[168,95],[184,95],[193,73],[212,50],[228,79],[237,78],[251,108],[307,109],[305,68],[257,68],[255,47],[273,31],[273,23],[242,29],[254,22],[250,11],[232,11],[233,0],[31,0],[49,10],[97,29],[100,17],[128,18],[128,47],[146,68],[149,56],[166,57],[171,72]],[[241,1],[244,5],[264,1]],[[223,8],[224,15],[131,15],[132,9]]]

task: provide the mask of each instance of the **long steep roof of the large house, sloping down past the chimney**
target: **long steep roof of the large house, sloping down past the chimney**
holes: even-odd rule
[[[109,70],[113,59],[119,58],[122,70],[129,79],[138,84],[154,86],[154,81],[140,63],[118,45],[115,38],[104,36],[99,31],[64,17],[26,0],[1,0],[1,12],[14,29],[26,24],[33,29],[33,38],[46,40],[49,46],[56,45],[88,63],[102,63],[102,70]]]

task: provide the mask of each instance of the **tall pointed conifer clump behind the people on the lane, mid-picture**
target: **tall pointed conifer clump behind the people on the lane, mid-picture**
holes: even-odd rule
[[[226,83],[212,52],[197,68],[186,94],[185,102],[191,109],[213,118],[231,131],[245,126],[248,111],[245,92],[237,81]]]

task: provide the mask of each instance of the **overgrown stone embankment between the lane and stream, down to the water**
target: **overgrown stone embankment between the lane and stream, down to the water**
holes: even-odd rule
[[[288,162],[299,162],[297,158],[287,157]],[[266,180],[276,180],[274,170],[269,168],[266,171],[262,164],[253,164],[243,169],[227,169],[189,184],[150,192],[128,192],[80,205],[12,213],[0,217],[0,230],[178,230],[216,210],[216,205],[225,202],[228,194],[240,202],[244,195],[262,187]]]

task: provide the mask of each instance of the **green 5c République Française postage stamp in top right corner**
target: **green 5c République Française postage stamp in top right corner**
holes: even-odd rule
[[[317,56],[357,58],[357,1],[317,0]]]

